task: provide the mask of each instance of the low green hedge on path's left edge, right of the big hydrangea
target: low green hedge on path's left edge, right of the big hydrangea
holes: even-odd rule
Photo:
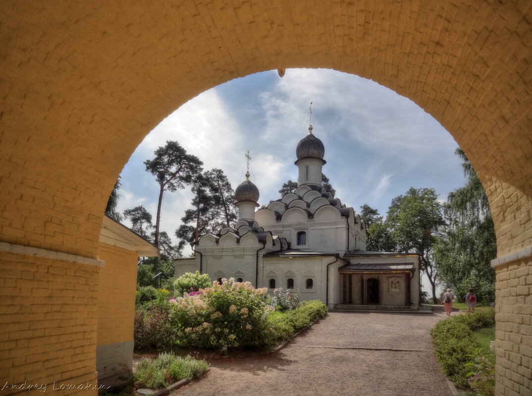
[[[301,303],[299,308],[274,313],[268,317],[273,331],[278,340],[288,340],[292,335],[320,317],[327,315],[328,309],[325,304],[319,300]]]

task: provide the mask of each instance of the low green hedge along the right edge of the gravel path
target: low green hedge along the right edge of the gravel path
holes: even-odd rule
[[[464,366],[472,363],[478,341],[473,335],[477,330],[495,323],[495,310],[458,315],[436,323],[430,331],[436,358],[443,372],[458,386],[468,386],[467,374],[470,369]]]

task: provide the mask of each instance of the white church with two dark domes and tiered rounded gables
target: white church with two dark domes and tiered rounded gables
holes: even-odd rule
[[[246,173],[235,190],[234,227],[203,235],[195,257],[174,260],[174,276],[198,270],[269,292],[298,290],[302,300],[319,299],[329,308],[417,310],[419,256],[365,249],[364,221],[322,187],[324,156],[310,125],[296,148],[296,190],[257,211],[259,189]]]

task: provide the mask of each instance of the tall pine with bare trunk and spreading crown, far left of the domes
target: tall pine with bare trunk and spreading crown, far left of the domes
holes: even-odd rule
[[[159,201],[157,202],[157,216],[155,218],[154,244],[159,246],[159,230],[161,225],[161,206],[165,191],[175,192],[192,183],[196,175],[202,171],[203,162],[187,151],[175,141],[167,141],[164,147],[154,152],[155,158],[144,161],[146,171],[155,176],[159,184]],[[157,272],[159,260],[154,260],[154,272]]]

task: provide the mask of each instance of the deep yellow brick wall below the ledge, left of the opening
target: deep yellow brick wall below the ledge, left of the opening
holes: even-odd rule
[[[51,392],[54,382],[56,388],[96,384],[98,272],[92,265],[0,254],[2,386],[47,384]],[[18,392],[4,389],[2,395]]]

